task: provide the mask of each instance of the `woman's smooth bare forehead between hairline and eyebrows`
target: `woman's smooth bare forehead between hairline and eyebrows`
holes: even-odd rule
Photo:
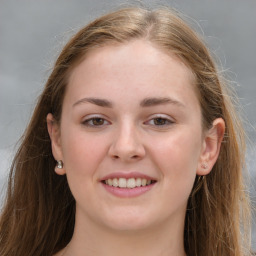
[[[184,94],[184,89],[191,93],[193,87],[194,75],[178,57],[148,41],[134,40],[90,50],[71,72],[67,94],[78,97],[82,91],[97,91],[100,95],[115,89],[126,93],[133,90],[145,96],[165,94],[170,89],[172,93]]]

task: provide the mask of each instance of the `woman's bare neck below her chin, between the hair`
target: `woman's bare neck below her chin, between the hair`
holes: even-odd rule
[[[76,218],[73,238],[60,255],[185,256],[184,218],[169,222],[143,230],[120,231]]]

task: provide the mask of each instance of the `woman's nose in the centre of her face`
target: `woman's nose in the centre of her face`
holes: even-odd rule
[[[145,156],[145,148],[135,125],[123,124],[113,136],[114,139],[109,148],[111,158],[130,162]]]

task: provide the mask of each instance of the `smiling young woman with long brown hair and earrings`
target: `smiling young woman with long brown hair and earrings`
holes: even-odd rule
[[[13,161],[0,254],[249,255],[229,94],[174,11],[122,9],[81,29]]]

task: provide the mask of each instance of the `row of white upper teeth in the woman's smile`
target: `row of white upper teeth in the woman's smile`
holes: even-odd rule
[[[150,185],[152,180],[142,179],[142,178],[114,178],[105,180],[105,184],[113,187],[119,188],[135,188],[135,187],[145,187]]]

